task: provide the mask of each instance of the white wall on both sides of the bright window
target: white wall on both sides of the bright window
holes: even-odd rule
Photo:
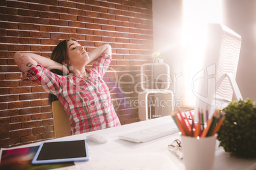
[[[182,4],[181,0],[153,0],[154,51],[162,52],[164,62],[170,66],[170,74],[182,74],[173,82],[176,100],[181,100],[182,67],[185,49],[181,48]],[[256,0],[224,0],[224,24],[242,37],[236,81],[243,98],[256,101]],[[174,84],[175,83],[175,84]]]

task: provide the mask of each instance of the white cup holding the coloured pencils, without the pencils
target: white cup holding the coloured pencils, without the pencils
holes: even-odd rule
[[[194,138],[181,135],[181,147],[186,170],[213,169],[216,138],[216,136]]]

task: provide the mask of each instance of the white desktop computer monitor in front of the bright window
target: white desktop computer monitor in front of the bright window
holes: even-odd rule
[[[222,109],[232,101],[242,100],[236,84],[241,36],[220,23],[208,25],[208,38],[204,51],[203,69],[192,80],[192,91],[196,95],[194,119],[198,121],[198,112],[203,112],[206,121],[216,109]],[[194,84],[199,82],[199,89]]]

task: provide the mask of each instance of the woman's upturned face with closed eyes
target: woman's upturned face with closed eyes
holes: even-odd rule
[[[67,54],[69,65],[73,67],[81,67],[87,65],[89,62],[89,55],[87,51],[78,42],[70,40],[67,42]]]

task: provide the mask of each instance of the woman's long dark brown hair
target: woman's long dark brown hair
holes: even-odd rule
[[[64,41],[59,42],[59,44],[53,49],[52,56],[50,57],[50,59],[61,64],[64,62],[68,63],[68,55],[67,55],[68,43],[67,42],[71,40],[76,41],[75,39],[65,39]],[[64,74],[64,72],[57,69],[52,69],[50,71],[53,72],[54,74],[66,75]],[[49,96],[48,96],[49,104],[52,105],[52,102],[55,100],[59,100],[59,99],[57,98],[57,96],[53,95],[52,93],[49,93]]]

